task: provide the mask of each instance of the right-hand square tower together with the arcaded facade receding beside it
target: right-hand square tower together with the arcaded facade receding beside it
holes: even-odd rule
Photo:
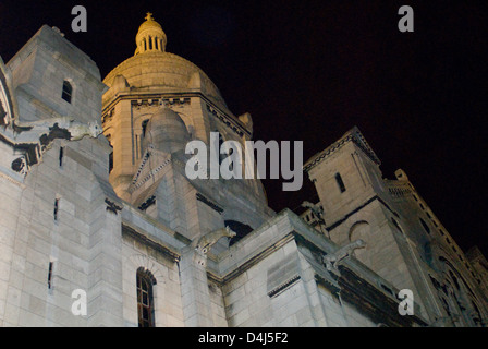
[[[481,281],[466,256],[405,171],[383,179],[380,165],[357,128],[305,164],[327,233],[340,245],[365,241],[357,260],[398,289],[412,290],[422,314],[437,325],[480,324]]]

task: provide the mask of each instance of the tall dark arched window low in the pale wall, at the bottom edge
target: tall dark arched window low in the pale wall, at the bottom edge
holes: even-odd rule
[[[141,267],[137,269],[137,315],[139,327],[155,327],[155,302],[152,285],[156,279],[152,274]]]

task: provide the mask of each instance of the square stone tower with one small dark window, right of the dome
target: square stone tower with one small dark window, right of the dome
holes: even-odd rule
[[[355,252],[361,262],[395,287],[415,289],[395,238],[392,218],[399,218],[382,195],[380,164],[354,128],[304,168],[317,189],[332,241],[342,245],[364,240],[366,248]]]

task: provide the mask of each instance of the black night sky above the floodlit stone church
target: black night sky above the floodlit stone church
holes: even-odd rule
[[[427,3],[426,3],[427,2]],[[251,112],[255,140],[304,141],[304,159],[357,125],[382,161],[398,168],[466,252],[488,256],[486,185],[486,1],[22,1],[0,2],[7,62],[40,28],[58,26],[102,77],[132,57],[146,12],[167,50],[202,68],[229,108]],[[83,4],[88,32],[73,33]],[[398,10],[415,11],[400,33]],[[314,198],[264,181],[270,206]]]

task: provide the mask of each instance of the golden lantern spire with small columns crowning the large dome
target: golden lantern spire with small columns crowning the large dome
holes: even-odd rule
[[[164,52],[167,37],[161,25],[155,21],[150,12],[147,12],[145,20],[146,22],[141,24],[135,37],[135,44],[137,45],[135,55],[157,51]]]

